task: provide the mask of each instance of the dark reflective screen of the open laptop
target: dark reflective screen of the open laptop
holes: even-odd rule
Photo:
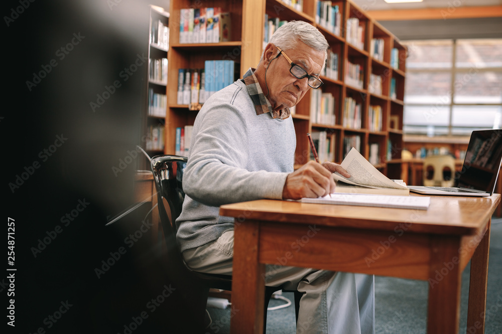
[[[472,131],[457,187],[493,194],[502,161],[502,129]]]

